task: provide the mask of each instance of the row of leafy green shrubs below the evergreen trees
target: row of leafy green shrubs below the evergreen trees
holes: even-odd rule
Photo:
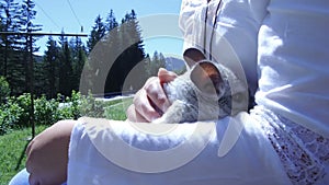
[[[36,125],[52,125],[60,119],[77,119],[81,116],[124,120],[128,102],[99,101],[91,94],[84,96],[72,92],[70,97],[47,100],[45,95],[34,99],[34,123]],[[124,106],[123,106],[124,105]],[[13,128],[24,128],[31,125],[30,109],[31,95],[22,94],[18,97],[8,97],[5,104],[0,104],[0,135]]]

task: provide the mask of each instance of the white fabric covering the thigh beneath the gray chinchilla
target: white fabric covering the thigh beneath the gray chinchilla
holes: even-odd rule
[[[228,125],[235,127],[224,137]],[[291,184],[271,143],[246,113],[198,125],[84,117],[72,131],[68,185],[264,183]]]

